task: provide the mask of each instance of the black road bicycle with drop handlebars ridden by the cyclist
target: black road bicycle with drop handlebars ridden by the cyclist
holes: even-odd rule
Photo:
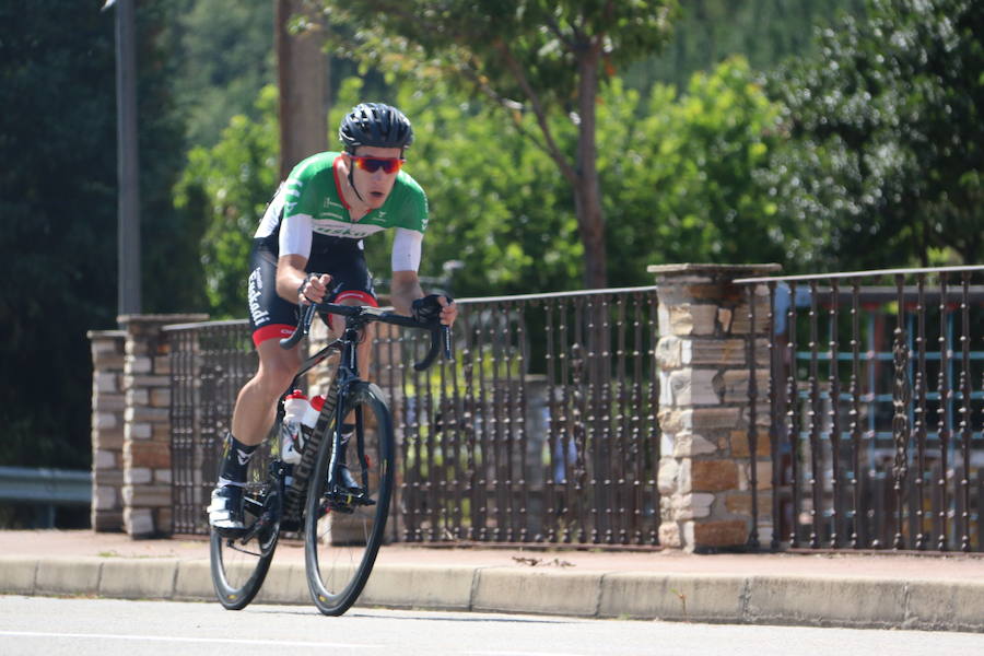
[[[333,303],[305,306],[297,328],[280,340],[280,345],[290,349],[300,342],[316,313],[342,316],[345,325],[340,338],[301,364],[281,397],[282,401],[312,368],[339,354],[301,460],[288,465],[280,457],[284,409],[278,402],[273,457],[267,462],[254,458],[247,473],[244,528],[211,531],[212,583],[219,601],[230,610],[241,610],[256,597],[280,535],[302,528],[307,585],[315,606],[325,614],[339,616],[355,602],[385,537],[396,467],[393,417],[382,390],[359,377],[356,345],[368,324],[393,324],[431,332],[427,354],[413,365],[417,371],[430,367],[442,347],[444,356],[452,358],[447,326],[375,307]],[[353,424],[354,432],[349,433]],[[358,488],[342,484],[339,471],[345,464]]]

